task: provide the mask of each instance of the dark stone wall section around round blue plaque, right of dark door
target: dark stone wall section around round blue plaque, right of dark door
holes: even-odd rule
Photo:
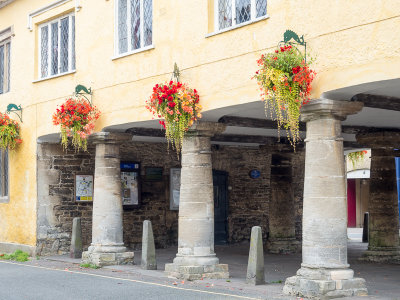
[[[212,161],[215,170],[228,172],[228,242],[249,240],[252,226],[261,226],[266,240],[271,154],[258,147],[219,146]],[[250,177],[253,169],[259,178]]]

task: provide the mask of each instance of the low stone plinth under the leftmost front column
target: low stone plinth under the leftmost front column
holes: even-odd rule
[[[133,265],[133,252],[90,252],[82,253],[83,264],[93,264],[99,267],[115,265]]]

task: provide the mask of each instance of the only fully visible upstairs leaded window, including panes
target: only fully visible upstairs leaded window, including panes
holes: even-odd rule
[[[75,71],[75,16],[39,26],[39,78]]]

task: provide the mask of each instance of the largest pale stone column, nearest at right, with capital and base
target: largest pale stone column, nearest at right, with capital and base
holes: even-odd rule
[[[302,109],[307,122],[302,264],[284,293],[341,297],[367,293],[347,263],[347,204],[341,121],[360,102],[317,99]]]

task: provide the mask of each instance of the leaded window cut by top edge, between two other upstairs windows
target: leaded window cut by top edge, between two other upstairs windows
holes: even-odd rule
[[[152,0],[117,1],[117,54],[133,52],[153,43]]]

